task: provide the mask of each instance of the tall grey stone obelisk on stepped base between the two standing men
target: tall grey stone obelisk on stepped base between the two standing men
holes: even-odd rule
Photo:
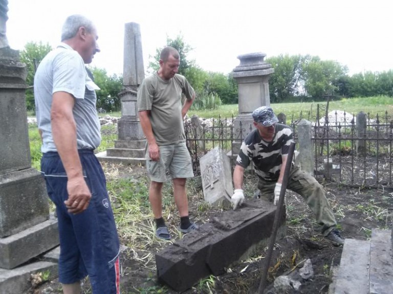
[[[125,24],[123,90],[121,118],[118,120],[118,140],[115,148],[106,150],[106,156],[98,154],[100,160],[145,164],[144,134],[137,107],[138,87],[145,78],[142,56],[141,32],[138,23]]]

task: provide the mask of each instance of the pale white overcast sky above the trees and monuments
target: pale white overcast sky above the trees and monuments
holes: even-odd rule
[[[101,52],[92,65],[109,74],[123,71],[124,23],[141,28],[144,65],[166,37],[181,34],[189,58],[205,70],[228,74],[238,55],[263,52],[319,56],[348,66],[350,75],[393,69],[393,2],[315,0],[9,0],[7,37],[11,48],[30,41],[55,46],[65,18],[91,18]]]

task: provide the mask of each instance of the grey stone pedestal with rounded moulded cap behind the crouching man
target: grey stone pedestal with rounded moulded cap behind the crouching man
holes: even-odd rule
[[[269,77],[274,69],[264,61],[265,57],[265,53],[239,55],[240,64],[233,69],[239,94],[239,115],[233,122],[233,155],[238,153],[241,141],[254,129],[251,113],[260,106],[270,105]]]

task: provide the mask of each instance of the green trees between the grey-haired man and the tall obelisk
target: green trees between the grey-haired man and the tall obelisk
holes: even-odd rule
[[[123,77],[118,75],[108,76],[105,69],[91,68],[94,82],[100,87],[97,93],[97,108],[103,108],[107,112],[119,111],[121,102],[118,94],[123,88]]]

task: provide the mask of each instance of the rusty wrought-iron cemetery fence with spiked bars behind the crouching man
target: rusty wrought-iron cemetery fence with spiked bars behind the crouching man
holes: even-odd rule
[[[310,113],[305,117],[310,120]],[[301,118],[302,114],[297,119],[292,117],[290,124],[296,143]],[[231,158],[233,170],[239,147],[254,128],[242,122],[235,128],[233,122],[233,116],[205,120],[193,117],[185,122],[195,176],[200,175],[200,158],[216,146]],[[393,118],[387,112],[376,117],[362,112],[353,116],[344,111],[328,113],[318,105],[311,129],[317,178],[344,186],[393,188]]]

